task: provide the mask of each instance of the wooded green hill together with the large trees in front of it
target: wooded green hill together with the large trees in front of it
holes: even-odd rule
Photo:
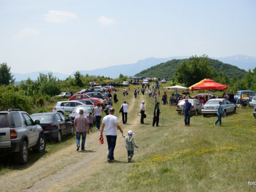
[[[195,55],[189,59],[173,59],[135,75],[167,77],[174,83],[182,83],[186,87],[190,87],[204,78],[209,78],[227,85],[227,91],[256,90],[256,68],[246,72],[236,66],[210,59],[206,55],[200,57]]]

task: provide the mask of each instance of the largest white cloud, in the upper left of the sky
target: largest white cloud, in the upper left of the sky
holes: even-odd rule
[[[48,14],[45,14],[44,16],[45,21],[50,23],[65,23],[68,22],[70,19],[77,18],[76,14],[69,11],[55,10],[48,11]]]

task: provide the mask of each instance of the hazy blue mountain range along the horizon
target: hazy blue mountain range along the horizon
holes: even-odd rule
[[[111,77],[111,78],[118,78],[120,73],[125,76],[134,76],[136,73],[141,72],[142,70],[151,68],[153,66],[158,65],[159,63],[166,62],[172,59],[185,59],[189,58],[190,56],[177,56],[177,57],[168,57],[168,58],[155,58],[155,57],[149,57],[145,59],[141,59],[137,61],[136,63],[131,64],[124,64],[124,65],[117,65],[117,66],[111,66],[101,69],[95,69],[90,71],[79,71],[82,75],[96,75],[96,76],[105,76],[105,77]],[[256,57],[251,57],[247,55],[234,55],[230,57],[209,57],[211,59],[217,59],[219,61],[222,61],[223,63],[228,63],[233,66],[237,66],[240,69],[244,69],[248,71],[249,69],[253,69],[256,67]],[[19,73],[12,73],[14,75],[15,81],[21,81],[21,80],[27,80],[28,77],[30,77],[31,80],[36,80],[39,76],[39,73],[47,74],[50,71],[37,71],[32,73],[26,73],[26,74],[19,74]],[[76,71],[74,71],[72,74],[62,74],[62,73],[53,73],[53,76],[56,76],[60,80],[65,80],[69,76],[74,77]]]

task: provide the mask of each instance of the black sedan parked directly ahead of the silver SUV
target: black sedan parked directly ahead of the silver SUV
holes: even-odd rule
[[[61,141],[64,135],[74,135],[74,126],[70,119],[67,119],[62,113],[36,113],[32,114],[33,121],[39,120],[39,125],[44,130],[46,139]]]

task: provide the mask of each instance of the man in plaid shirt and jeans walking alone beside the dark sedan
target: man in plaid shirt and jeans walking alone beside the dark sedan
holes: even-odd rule
[[[81,150],[86,151],[86,148],[84,148],[84,144],[86,144],[86,130],[87,133],[90,133],[89,129],[89,121],[87,119],[87,116],[83,115],[83,110],[79,110],[79,115],[75,117],[74,120],[74,127],[76,130],[76,151],[79,151],[80,148],[80,137],[82,135],[82,143],[81,143]]]

